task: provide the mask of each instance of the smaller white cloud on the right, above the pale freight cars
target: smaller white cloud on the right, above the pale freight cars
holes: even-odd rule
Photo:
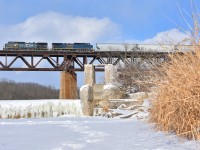
[[[153,38],[146,39],[142,41],[145,44],[163,44],[163,43],[171,43],[176,44],[179,42],[183,42],[185,39],[191,37],[191,34],[186,32],[181,32],[179,29],[170,29],[168,31],[159,32]]]

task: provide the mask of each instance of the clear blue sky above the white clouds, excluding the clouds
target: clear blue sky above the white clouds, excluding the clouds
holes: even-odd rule
[[[48,11],[107,17],[119,25],[124,39],[144,40],[174,28],[168,18],[180,24],[177,4],[189,12],[190,0],[1,0],[0,20],[2,25],[13,25]]]

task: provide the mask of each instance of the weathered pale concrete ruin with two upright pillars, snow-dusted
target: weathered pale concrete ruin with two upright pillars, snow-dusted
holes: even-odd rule
[[[95,66],[92,64],[84,65],[84,83],[80,89],[82,100],[83,114],[86,116],[93,115],[95,105],[108,107],[108,99],[119,97],[119,90],[113,85],[117,70],[114,65],[106,64],[105,66],[105,84],[95,83]]]

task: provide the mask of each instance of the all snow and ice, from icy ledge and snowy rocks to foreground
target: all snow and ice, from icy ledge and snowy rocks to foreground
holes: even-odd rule
[[[119,108],[112,110],[122,114],[115,118],[84,117],[80,100],[0,101],[0,150],[200,149],[199,142],[146,123],[148,100],[135,109]],[[26,119],[5,119],[12,116]]]

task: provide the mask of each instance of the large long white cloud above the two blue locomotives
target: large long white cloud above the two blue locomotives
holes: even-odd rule
[[[0,27],[0,46],[7,41],[95,42],[119,35],[118,25],[109,18],[41,13],[22,23]]]

